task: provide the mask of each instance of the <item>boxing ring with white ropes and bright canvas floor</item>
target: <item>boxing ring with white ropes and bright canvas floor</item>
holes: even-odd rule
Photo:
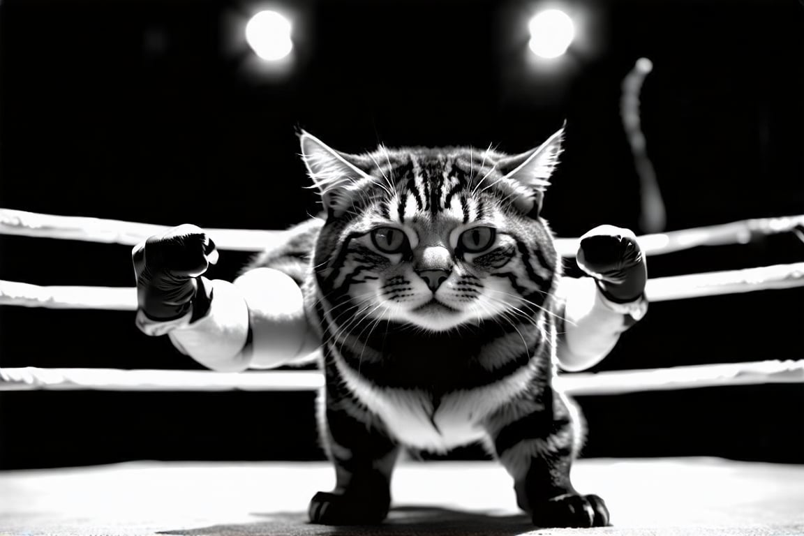
[[[642,235],[647,256],[749,243],[804,227],[804,215]],[[167,227],[0,210],[0,234],[133,246]],[[207,229],[219,249],[256,252],[285,231]],[[560,239],[571,257],[577,239]],[[651,302],[804,286],[804,263],[648,281]],[[0,281],[0,305],[133,312],[135,288]],[[128,318],[128,320],[126,320]],[[121,321],[132,317],[121,316]],[[564,374],[572,395],[764,383],[804,383],[804,360],[771,360]],[[249,371],[0,368],[0,391],[312,391],[314,370]],[[188,447],[188,448],[191,448]],[[804,534],[804,467],[714,458],[579,460],[576,487],[605,497],[613,528],[584,534]],[[334,482],[328,464],[130,462],[0,473],[0,534],[527,534],[511,483],[490,462],[405,462],[382,528],[306,524],[306,504]],[[482,483],[482,485],[478,485]],[[81,493],[75,493],[76,489]],[[539,530],[535,534],[577,534]]]

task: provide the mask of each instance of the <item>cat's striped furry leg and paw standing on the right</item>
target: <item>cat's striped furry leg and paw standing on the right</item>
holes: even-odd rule
[[[609,511],[597,495],[577,493],[569,471],[578,438],[567,403],[552,389],[518,399],[486,422],[494,450],[514,477],[517,504],[536,526],[607,526]]]

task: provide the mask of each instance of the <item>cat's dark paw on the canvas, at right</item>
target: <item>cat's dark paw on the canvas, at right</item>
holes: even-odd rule
[[[609,509],[597,495],[567,493],[535,505],[531,518],[539,527],[608,526]]]

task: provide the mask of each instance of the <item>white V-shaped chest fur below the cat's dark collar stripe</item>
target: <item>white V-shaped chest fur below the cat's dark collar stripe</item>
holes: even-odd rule
[[[375,387],[340,360],[338,369],[351,391],[383,420],[400,443],[445,452],[485,436],[482,419],[527,386],[531,370],[470,391],[454,391],[440,400],[424,391]],[[433,406],[436,407],[433,407]]]

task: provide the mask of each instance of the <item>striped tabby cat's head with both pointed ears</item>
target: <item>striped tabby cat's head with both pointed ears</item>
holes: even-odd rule
[[[441,332],[535,318],[560,272],[539,217],[563,129],[526,153],[385,149],[341,153],[301,133],[322,196],[322,299],[346,319]]]

